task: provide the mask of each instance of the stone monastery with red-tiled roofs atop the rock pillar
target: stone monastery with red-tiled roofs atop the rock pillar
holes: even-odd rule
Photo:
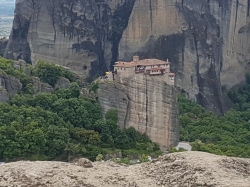
[[[139,56],[133,56],[131,62],[118,61],[114,65],[113,72],[107,72],[105,78],[108,80],[116,80],[136,75],[155,76],[174,85],[175,74],[170,72],[170,62],[158,59],[143,59]]]

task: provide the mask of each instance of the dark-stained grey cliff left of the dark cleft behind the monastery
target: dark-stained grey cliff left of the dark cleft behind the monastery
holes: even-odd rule
[[[105,71],[115,58],[112,51],[118,49],[134,1],[16,0],[5,57],[44,59],[84,76]]]

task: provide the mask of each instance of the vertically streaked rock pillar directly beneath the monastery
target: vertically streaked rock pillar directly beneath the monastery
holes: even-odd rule
[[[179,141],[177,90],[163,80],[135,76],[118,82],[103,82],[98,89],[105,114],[118,111],[121,128],[134,127],[164,149]]]

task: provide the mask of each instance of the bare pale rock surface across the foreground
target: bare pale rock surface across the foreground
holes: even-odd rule
[[[111,161],[92,164],[84,168],[64,162],[6,163],[0,165],[0,186],[250,186],[250,159],[203,152],[173,153],[132,166]]]

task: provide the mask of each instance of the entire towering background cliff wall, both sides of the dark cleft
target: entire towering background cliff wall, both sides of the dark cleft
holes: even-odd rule
[[[249,72],[249,17],[249,0],[16,0],[5,57],[85,76],[133,54],[169,58],[177,86],[221,114],[222,87]]]

